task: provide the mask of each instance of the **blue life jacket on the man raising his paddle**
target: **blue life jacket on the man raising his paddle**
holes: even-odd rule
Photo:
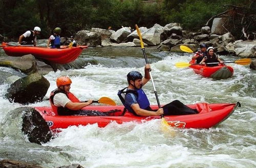
[[[124,91],[126,89],[126,91]],[[150,107],[150,101],[148,101],[148,98],[146,97],[146,94],[144,93],[144,91],[142,89],[138,89],[138,90],[127,90],[127,87],[120,90],[117,95],[120,98],[121,102],[123,103],[125,109],[123,110],[123,114],[125,113],[126,109],[129,110],[130,112],[132,112],[134,115],[138,116],[135,111],[132,109],[132,107],[130,107],[129,105],[127,105],[125,103],[125,96],[127,94],[134,94],[137,97],[137,102],[140,106],[140,108],[142,109],[147,109],[147,110],[152,110]]]

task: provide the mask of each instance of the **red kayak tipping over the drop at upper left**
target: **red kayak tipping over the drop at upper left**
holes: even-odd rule
[[[9,56],[21,57],[23,55],[32,54],[36,58],[59,64],[67,64],[77,59],[83,47],[57,49],[33,46],[10,46],[3,42],[3,49]]]

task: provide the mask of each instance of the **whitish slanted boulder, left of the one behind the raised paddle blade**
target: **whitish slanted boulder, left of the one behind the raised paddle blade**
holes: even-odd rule
[[[127,41],[127,36],[131,34],[129,27],[122,27],[110,36],[110,40],[115,43]]]

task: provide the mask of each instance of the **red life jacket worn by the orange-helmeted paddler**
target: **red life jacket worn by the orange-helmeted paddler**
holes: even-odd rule
[[[60,115],[60,116],[67,116],[67,115],[71,115],[73,113],[76,112],[76,110],[71,110],[71,109],[68,109],[67,107],[58,107],[56,105],[54,105],[54,101],[53,101],[53,98],[54,96],[57,94],[57,93],[63,93],[65,95],[67,95],[67,97],[72,101],[72,102],[80,102],[79,99],[73,95],[71,92],[69,93],[66,93],[64,91],[59,91],[58,89],[55,89],[54,91],[51,92],[50,94],[50,103],[51,103],[51,106],[52,106],[52,110],[53,112],[55,113],[55,115]]]

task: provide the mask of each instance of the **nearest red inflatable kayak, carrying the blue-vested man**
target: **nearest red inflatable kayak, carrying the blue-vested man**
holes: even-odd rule
[[[237,104],[223,103],[223,104],[207,104],[197,103],[188,105],[191,108],[197,109],[199,114],[195,115],[182,115],[182,116],[165,116],[165,120],[172,127],[178,128],[210,128],[217,126],[226,120],[236,109],[241,106]],[[152,105],[152,109],[158,109],[157,105]],[[84,109],[99,110],[103,113],[108,112],[109,116],[58,116],[55,115],[51,107],[35,107],[41,116],[47,121],[50,129],[67,128],[69,126],[87,125],[97,123],[99,127],[105,127],[109,123],[115,121],[118,124],[124,122],[145,122],[154,119],[160,119],[160,116],[141,117],[135,116],[129,111],[122,116],[124,107],[119,106],[88,106]]]

